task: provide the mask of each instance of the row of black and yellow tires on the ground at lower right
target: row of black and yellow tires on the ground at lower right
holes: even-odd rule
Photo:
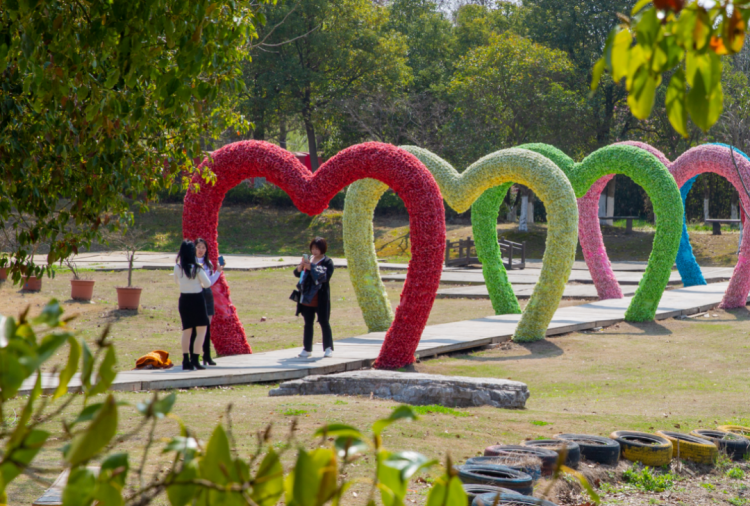
[[[488,446],[483,457],[470,458],[457,469],[471,506],[555,506],[531,494],[536,481],[552,476],[559,465],[576,468],[585,459],[615,466],[621,458],[650,467],[666,466],[673,458],[712,465],[719,452],[737,461],[750,456],[750,428],[726,425],[690,434],[620,430],[608,438],[557,434],[520,445]]]

